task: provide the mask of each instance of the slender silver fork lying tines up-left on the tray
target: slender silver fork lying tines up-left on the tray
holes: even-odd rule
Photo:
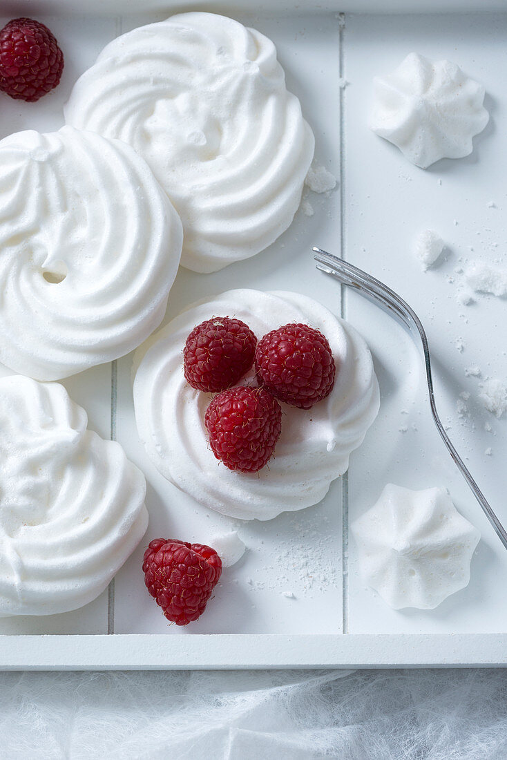
[[[414,309],[412,309],[407,304],[407,302],[404,301],[404,299],[398,296],[398,293],[395,293],[395,291],[391,290],[390,287],[384,283],[381,283],[380,280],[376,280],[375,277],[372,277],[371,274],[366,274],[366,272],[363,272],[363,270],[354,267],[352,264],[349,264],[348,261],[343,261],[343,259],[337,258],[331,253],[323,251],[320,248],[314,248],[313,251],[315,252],[315,256],[313,258],[315,258],[315,261],[318,261],[317,269],[320,269],[320,271],[325,272],[326,274],[331,274],[331,277],[335,277],[337,280],[340,280],[340,282],[344,283],[344,285],[352,287],[354,290],[358,290],[362,296],[374,302],[377,306],[380,306],[385,312],[391,315],[391,317],[398,319],[398,321],[400,321],[401,324],[410,332],[410,335],[415,343],[418,344],[419,341],[417,338],[420,338],[420,341],[423,344],[424,365],[426,367],[426,381],[428,383],[429,391],[429,406],[431,407],[431,412],[433,414],[433,421],[435,422],[436,427],[442,436],[443,442],[448,448],[449,454],[451,454],[453,460],[455,461],[458,470],[460,470],[464,479],[471,487],[475,498],[483,508],[483,512],[486,515],[486,518],[488,518],[490,523],[493,525],[493,528],[496,530],[496,534],[502,541],[505,549],[507,549],[507,533],[505,532],[505,528],[496,517],[493,509],[487,502],[486,497],[483,495],[483,492],[480,490],[474,478],[471,476],[471,473],[469,473],[467,467],[465,467],[463,460],[458,454],[458,451],[456,451],[455,447],[452,445],[452,442],[449,440],[448,435],[442,426],[442,422],[440,421],[440,417],[435,405],[435,394],[433,392],[433,380],[431,376],[431,362],[429,359],[428,339],[426,338],[426,333],[424,331],[423,325],[421,325],[420,318],[414,312]]]

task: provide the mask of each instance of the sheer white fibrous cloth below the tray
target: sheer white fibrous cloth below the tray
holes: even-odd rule
[[[504,760],[507,670],[2,673],[8,760]]]

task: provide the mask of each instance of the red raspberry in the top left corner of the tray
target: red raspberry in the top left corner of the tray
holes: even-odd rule
[[[63,53],[48,27],[14,18],[0,30],[0,90],[33,103],[59,84]]]

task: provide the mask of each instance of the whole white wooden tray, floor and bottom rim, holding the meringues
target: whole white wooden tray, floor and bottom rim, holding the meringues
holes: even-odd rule
[[[100,5],[100,8],[99,8]],[[49,131],[62,125],[62,104],[75,79],[113,37],[166,17],[163,0],[126,2],[150,9],[119,14],[122,3],[90,2],[97,15],[74,0],[11,3],[13,15],[35,15],[55,32],[65,52],[58,90],[39,103],[2,97],[0,136],[24,128]],[[505,378],[505,301],[480,297],[459,306],[456,293],[466,259],[505,259],[505,38],[507,14],[339,14],[371,10],[368,0],[313,8],[287,3],[269,12],[249,11],[247,0],[230,14],[270,36],[287,81],[303,103],[316,136],[316,160],[339,179],[328,197],[309,195],[311,217],[299,211],[290,230],[249,261],[211,275],[180,270],[166,319],[193,300],[230,287],[299,290],[343,314],[366,337],[375,359],[382,408],[347,477],[335,481],[321,505],[274,521],[232,521],[182,495],[147,461],[135,429],[132,356],[65,381],[89,414],[90,427],[115,437],[148,480],[147,540],[116,576],[109,591],[74,613],[0,620],[0,667],[5,669],[149,669],[238,667],[385,667],[507,664],[507,553],[455,470],[429,410],[420,359],[409,338],[382,312],[345,293],[318,273],[312,245],[371,271],[410,302],[427,328],[436,361],[437,401],[458,450],[499,517],[507,522],[505,420],[477,402],[477,378],[464,370]],[[396,11],[399,3],[385,3]],[[448,0],[445,7],[462,3]],[[467,3],[467,8],[476,4]],[[495,8],[483,2],[480,8]],[[501,3],[503,7],[503,2]],[[230,7],[232,3],[230,4]],[[180,5],[181,7],[181,5]],[[220,8],[223,8],[223,4]],[[255,6],[258,8],[258,6]],[[439,8],[444,4],[439,3]],[[213,10],[211,2],[201,8]],[[432,11],[433,2],[413,10]],[[152,12],[151,9],[154,9]],[[46,12],[43,12],[46,11]],[[53,15],[47,15],[51,11]],[[65,14],[64,14],[65,11]],[[100,15],[99,15],[100,12]],[[486,85],[492,119],[476,138],[474,154],[442,160],[424,172],[376,138],[366,127],[375,73],[390,71],[411,50],[448,57]],[[346,87],[341,78],[347,80]],[[495,206],[490,207],[490,201]],[[442,266],[426,274],[410,254],[414,236],[432,227],[448,242]],[[474,251],[470,249],[473,248]],[[463,261],[460,261],[463,259]],[[505,261],[507,268],[507,261]],[[485,339],[486,338],[486,339]],[[462,347],[458,350],[457,347]],[[4,370],[8,374],[8,370]],[[470,417],[458,415],[461,391]],[[485,423],[492,430],[486,432]],[[402,432],[407,427],[406,432]],[[485,455],[492,448],[491,456]],[[480,528],[472,581],[433,611],[394,611],[365,587],[356,568],[348,525],[379,496],[388,481],[411,488],[447,486],[456,505]],[[223,573],[205,615],[187,629],[167,624],[144,589],[141,557],[153,537],[206,543],[213,534],[239,529],[248,546],[243,559]],[[288,596],[293,594],[293,597]]]

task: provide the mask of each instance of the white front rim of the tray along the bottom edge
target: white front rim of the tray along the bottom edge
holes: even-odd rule
[[[1,635],[0,663],[0,670],[507,667],[507,634]]]

